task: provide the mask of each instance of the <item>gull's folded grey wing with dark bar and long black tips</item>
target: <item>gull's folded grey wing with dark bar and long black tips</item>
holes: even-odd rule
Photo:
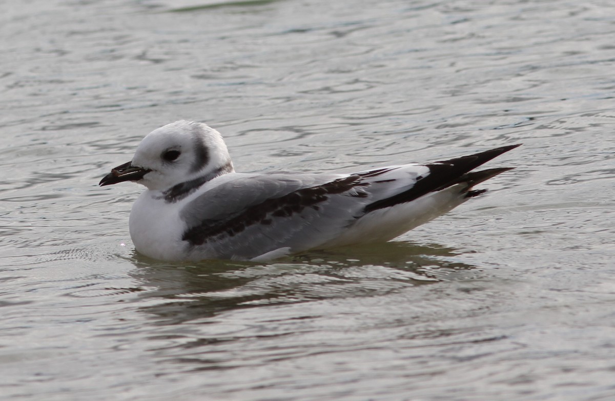
[[[183,209],[182,239],[194,255],[203,258],[252,259],[283,247],[292,252],[311,249],[336,238],[371,212],[451,185],[464,184],[459,196],[474,197],[484,190],[470,191],[473,185],[509,168],[469,171],[517,146],[351,175],[241,175],[213,187]]]

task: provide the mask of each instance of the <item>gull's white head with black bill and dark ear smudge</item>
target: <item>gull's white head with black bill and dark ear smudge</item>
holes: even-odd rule
[[[233,171],[231,157],[218,131],[204,123],[177,121],[148,134],[132,161],[111,170],[100,185],[134,181],[150,190]]]

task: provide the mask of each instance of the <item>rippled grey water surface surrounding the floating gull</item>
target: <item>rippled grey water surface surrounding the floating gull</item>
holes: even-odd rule
[[[593,1],[0,3],[0,398],[614,400],[615,7]],[[238,171],[522,142],[486,195],[373,247],[161,263],[149,131]]]

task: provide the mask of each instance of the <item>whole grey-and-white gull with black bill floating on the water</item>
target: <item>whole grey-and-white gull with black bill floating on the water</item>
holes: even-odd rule
[[[309,249],[389,241],[486,189],[511,168],[472,171],[519,146],[351,174],[236,173],[218,131],[181,120],[157,128],[99,185],[137,182],[129,230],[165,261],[266,261]]]

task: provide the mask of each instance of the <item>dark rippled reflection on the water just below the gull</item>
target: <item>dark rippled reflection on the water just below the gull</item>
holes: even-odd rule
[[[458,256],[448,247],[399,241],[270,263],[165,263],[135,254],[137,269],[131,274],[144,289],[139,296],[151,300],[144,310],[156,323],[179,324],[236,308],[387,294],[478,274],[475,267],[455,262]]]

